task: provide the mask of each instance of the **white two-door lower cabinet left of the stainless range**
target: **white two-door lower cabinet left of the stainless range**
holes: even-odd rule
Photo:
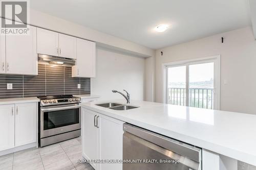
[[[0,105],[0,151],[36,142],[36,114],[37,103]]]

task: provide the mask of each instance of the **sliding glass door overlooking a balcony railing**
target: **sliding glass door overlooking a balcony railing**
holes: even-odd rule
[[[219,109],[218,59],[175,63],[165,69],[165,103]]]

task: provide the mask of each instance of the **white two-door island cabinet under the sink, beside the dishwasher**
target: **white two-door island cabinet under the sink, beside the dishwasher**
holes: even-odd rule
[[[123,123],[82,108],[82,155],[92,160],[122,159]],[[96,170],[121,170],[121,163],[91,163]]]

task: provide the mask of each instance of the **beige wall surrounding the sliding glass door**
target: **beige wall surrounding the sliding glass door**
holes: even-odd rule
[[[221,43],[224,37],[224,43]],[[163,52],[163,56],[160,52]],[[221,55],[220,109],[256,114],[256,41],[251,27],[156,51],[155,94],[162,102],[162,63]],[[224,80],[227,84],[224,84]]]

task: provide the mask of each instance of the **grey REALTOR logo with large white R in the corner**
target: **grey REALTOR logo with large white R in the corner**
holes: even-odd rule
[[[1,34],[28,34],[28,2],[1,1]]]

